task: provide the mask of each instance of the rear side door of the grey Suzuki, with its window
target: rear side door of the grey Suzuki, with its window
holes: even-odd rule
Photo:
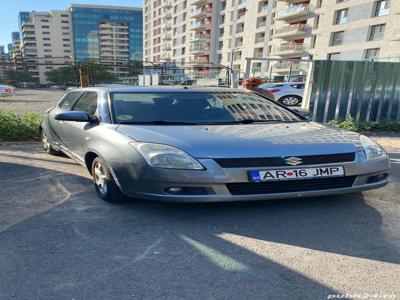
[[[54,143],[58,146],[65,147],[67,136],[64,132],[64,121],[55,119],[55,116],[61,112],[69,111],[72,109],[75,102],[82,95],[81,91],[74,91],[67,93],[59,102],[59,104],[49,112],[49,126]]]

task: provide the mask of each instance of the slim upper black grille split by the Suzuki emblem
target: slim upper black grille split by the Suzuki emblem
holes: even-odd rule
[[[355,153],[340,153],[326,155],[296,156],[301,158],[301,165],[334,164],[354,161]],[[216,158],[214,159],[222,168],[255,168],[255,167],[281,167],[289,166],[287,157],[256,157],[256,158]]]

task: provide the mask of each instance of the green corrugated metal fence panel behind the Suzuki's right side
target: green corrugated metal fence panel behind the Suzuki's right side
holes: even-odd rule
[[[318,60],[310,88],[313,121],[400,121],[400,63]]]

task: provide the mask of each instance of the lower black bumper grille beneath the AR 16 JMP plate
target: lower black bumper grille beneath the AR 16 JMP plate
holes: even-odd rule
[[[228,183],[232,195],[282,194],[348,188],[353,186],[356,176],[332,177],[271,182]]]

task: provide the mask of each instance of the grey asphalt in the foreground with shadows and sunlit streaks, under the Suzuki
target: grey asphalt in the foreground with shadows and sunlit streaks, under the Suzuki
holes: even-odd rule
[[[105,203],[72,160],[0,146],[0,299],[398,299],[398,141],[384,189],[206,205]]]

